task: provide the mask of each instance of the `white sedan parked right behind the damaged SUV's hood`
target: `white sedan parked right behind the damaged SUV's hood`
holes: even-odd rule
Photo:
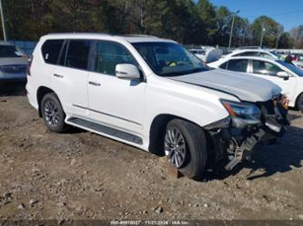
[[[282,88],[289,99],[290,107],[298,107],[303,111],[303,71],[295,64],[264,57],[236,56],[222,58],[212,64],[213,68],[247,73],[267,79]],[[246,76],[246,74],[242,74]]]

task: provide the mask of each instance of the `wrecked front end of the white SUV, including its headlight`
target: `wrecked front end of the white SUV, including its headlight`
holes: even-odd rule
[[[289,125],[288,102],[284,95],[260,103],[221,102],[229,116],[204,129],[212,139],[215,162],[227,158],[227,170],[249,160],[259,143],[276,141]]]

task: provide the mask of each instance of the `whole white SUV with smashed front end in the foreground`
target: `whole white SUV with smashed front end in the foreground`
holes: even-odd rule
[[[288,124],[277,85],[209,70],[182,45],[153,36],[45,35],[27,81],[51,131],[73,125],[167,155],[195,179],[220,160],[233,168]]]

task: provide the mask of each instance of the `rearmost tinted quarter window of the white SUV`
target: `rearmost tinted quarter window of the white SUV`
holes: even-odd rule
[[[56,64],[64,40],[47,40],[42,45],[42,54],[47,64]]]

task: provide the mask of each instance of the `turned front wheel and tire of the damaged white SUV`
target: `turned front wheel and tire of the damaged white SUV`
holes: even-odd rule
[[[181,163],[179,162],[180,164],[178,167],[176,163],[178,162],[176,157],[176,161],[174,161],[174,158],[171,157],[173,154],[170,154],[171,150],[173,149],[173,142],[169,141],[171,140],[169,139],[169,131],[170,134],[172,134],[176,132],[175,129],[177,129],[177,131],[182,134],[182,137],[185,141],[185,145],[183,145],[183,142],[178,142],[177,147],[175,147],[175,154],[177,152],[177,148],[182,149],[182,146],[185,146],[186,148],[184,161],[181,161]],[[179,138],[180,136],[177,134],[175,137]],[[178,138],[176,138],[176,140],[178,140]],[[199,180],[203,177],[207,164],[207,138],[202,128],[194,123],[189,123],[180,119],[174,119],[167,124],[164,145],[168,162],[173,167],[176,167],[179,172],[186,175],[188,178],[195,180]],[[183,154],[184,151],[182,151],[182,154],[177,155],[179,155],[179,157],[182,157]]]

